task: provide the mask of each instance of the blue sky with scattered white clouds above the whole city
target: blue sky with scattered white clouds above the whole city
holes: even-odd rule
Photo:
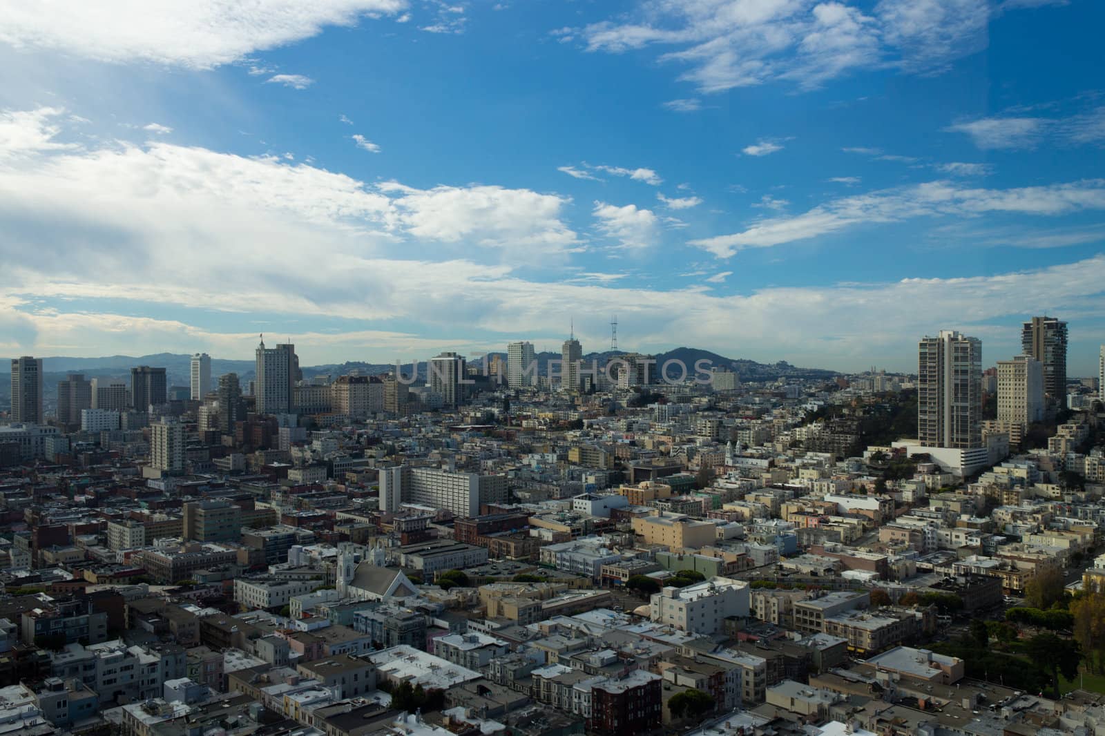
[[[92,7],[94,6],[94,7]],[[308,7],[309,6],[309,7]],[[0,353],[1105,343],[1092,0],[0,0]]]

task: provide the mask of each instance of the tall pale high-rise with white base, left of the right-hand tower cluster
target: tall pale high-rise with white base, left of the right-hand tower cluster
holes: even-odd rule
[[[982,444],[982,343],[940,330],[918,345],[917,439],[930,448],[971,449]]]

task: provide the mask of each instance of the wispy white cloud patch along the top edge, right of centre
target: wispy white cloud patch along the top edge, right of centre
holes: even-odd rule
[[[944,71],[986,48],[992,12],[989,0],[645,0],[561,35],[589,52],[663,49],[659,61],[706,94],[777,80],[808,90],[855,70]]]

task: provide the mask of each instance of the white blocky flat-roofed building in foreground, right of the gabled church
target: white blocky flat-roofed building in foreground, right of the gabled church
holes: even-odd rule
[[[688,633],[722,631],[730,617],[747,618],[750,606],[748,583],[732,578],[714,578],[686,588],[669,586],[653,593],[650,618]]]

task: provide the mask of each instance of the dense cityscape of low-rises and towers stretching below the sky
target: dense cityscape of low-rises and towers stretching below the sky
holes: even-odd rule
[[[1067,329],[985,370],[941,329],[915,374],[615,323],[343,375],[263,336],[241,374],[13,358],[0,724],[1095,733],[1105,346],[1070,376]]]

